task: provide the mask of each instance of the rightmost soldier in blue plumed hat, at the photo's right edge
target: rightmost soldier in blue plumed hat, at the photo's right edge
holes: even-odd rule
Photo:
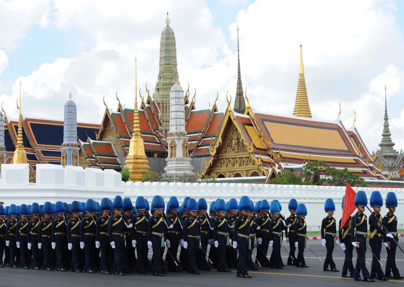
[[[384,236],[383,244],[387,250],[385,276],[387,278],[402,279],[404,278],[404,276],[400,275],[400,272],[395,265],[395,251],[397,249],[396,242],[398,242],[397,217],[394,215],[395,208],[397,207],[397,198],[395,196],[395,193],[387,193],[386,207],[388,208],[388,212],[383,217],[383,225],[387,228],[387,232],[392,234],[394,238],[388,238],[387,236]],[[392,276],[391,272],[393,273]]]

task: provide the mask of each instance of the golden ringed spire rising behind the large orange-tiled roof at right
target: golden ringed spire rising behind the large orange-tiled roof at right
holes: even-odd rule
[[[300,65],[299,65],[299,80],[297,84],[296,101],[294,103],[293,116],[311,118],[309,98],[307,97],[305,70],[303,68],[303,56],[301,53],[300,44]]]

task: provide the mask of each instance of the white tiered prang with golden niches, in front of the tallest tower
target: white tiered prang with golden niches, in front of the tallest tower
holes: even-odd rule
[[[185,131],[184,90],[178,83],[175,83],[170,90],[170,129],[167,142],[168,157],[164,170],[178,175],[193,173],[188,155],[188,136]]]

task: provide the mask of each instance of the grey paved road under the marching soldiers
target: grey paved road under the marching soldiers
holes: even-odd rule
[[[325,247],[321,246],[321,241],[308,241],[309,247],[323,260],[326,254]],[[401,246],[404,245],[401,243]],[[285,246],[288,249],[288,246]],[[355,251],[354,251],[355,252]],[[355,254],[355,253],[354,253]],[[372,261],[370,252],[367,252],[367,260]],[[283,261],[286,262],[287,254],[282,249]],[[365,282],[355,282],[353,279],[341,278],[341,272],[331,273],[324,272],[322,262],[316,258],[310,250],[305,251],[306,263],[310,268],[297,268],[294,266],[286,266],[283,270],[271,269],[267,267],[261,268],[259,271],[252,272],[252,279],[236,278],[235,270],[232,273],[222,273],[216,271],[200,271],[200,275],[191,275],[186,272],[169,273],[165,277],[151,276],[139,274],[127,274],[126,276],[103,275],[103,274],[87,274],[59,271],[35,271],[24,269],[0,268],[0,286],[116,286],[119,285],[144,285],[156,286],[164,284],[166,286],[245,286],[261,285],[268,286],[277,284],[279,286],[315,286],[327,287],[336,285],[340,286],[358,286],[367,284]],[[356,257],[356,254],[355,254]],[[382,251],[382,263],[385,263],[386,252]],[[342,250],[334,250],[334,261],[338,269],[342,269],[343,252]],[[397,250],[396,254],[397,267],[404,275],[404,254]],[[355,265],[355,259],[354,259]],[[368,266],[370,271],[370,266]],[[383,266],[384,270],[384,266]],[[404,280],[392,280],[387,282],[377,281],[373,284],[383,284],[383,286],[402,286]]]

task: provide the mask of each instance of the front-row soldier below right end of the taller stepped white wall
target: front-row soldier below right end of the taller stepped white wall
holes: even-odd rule
[[[124,232],[127,231],[125,222],[121,216],[122,214],[122,198],[116,196],[114,199],[114,213],[108,222],[108,236],[110,238],[110,245],[114,249],[114,274],[125,276],[122,269],[122,252],[125,245]]]

